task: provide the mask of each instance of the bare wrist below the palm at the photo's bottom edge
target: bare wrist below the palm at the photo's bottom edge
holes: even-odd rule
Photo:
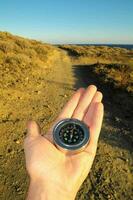
[[[57,185],[52,186],[42,180],[31,179],[26,200],[74,200],[75,196],[76,194],[65,192]]]

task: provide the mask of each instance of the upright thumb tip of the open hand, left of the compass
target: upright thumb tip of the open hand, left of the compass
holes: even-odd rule
[[[40,135],[40,127],[35,121],[27,122],[27,137],[36,139]]]

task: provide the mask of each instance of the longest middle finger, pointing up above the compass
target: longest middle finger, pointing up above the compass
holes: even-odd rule
[[[82,120],[87,109],[88,106],[90,105],[95,93],[96,93],[96,86],[95,85],[90,85],[85,93],[83,94],[83,96],[81,97],[76,109],[74,110],[74,113],[72,115],[72,118],[77,118],[79,120]]]

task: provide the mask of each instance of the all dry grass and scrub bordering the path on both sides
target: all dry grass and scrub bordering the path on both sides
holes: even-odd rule
[[[46,68],[65,67],[70,58],[72,64],[97,63],[95,72],[105,83],[133,92],[133,50],[107,46],[58,47],[0,32],[0,87],[25,85],[29,77],[34,78]]]

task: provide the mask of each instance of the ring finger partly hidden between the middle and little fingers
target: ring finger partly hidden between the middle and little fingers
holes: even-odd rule
[[[103,95],[101,92],[97,91],[92,99],[92,102],[86,112],[86,114],[84,115],[83,117],[83,121],[88,125],[90,126],[90,122],[91,122],[91,119],[92,119],[92,115],[93,115],[93,112],[94,112],[94,109],[95,109],[95,103],[98,103],[98,102],[101,102],[102,101],[102,98],[103,98]]]

